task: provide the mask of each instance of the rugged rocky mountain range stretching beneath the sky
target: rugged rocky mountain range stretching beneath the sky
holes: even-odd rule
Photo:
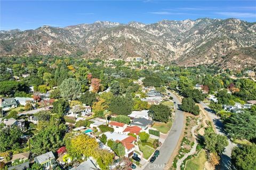
[[[241,69],[256,64],[256,23],[197,19],[144,24],[97,21],[64,28],[1,31],[1,56],[142,57],[184,66]]]

